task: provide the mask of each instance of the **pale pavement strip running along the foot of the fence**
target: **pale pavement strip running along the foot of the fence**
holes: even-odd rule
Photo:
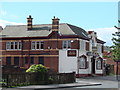
[[[96,86],[101,85],[100,83],[93,83],[93,82],[75,82],[75,83],[69,83],[69,84],[51,84],[51,85],[30,85],[30,86],[23,86],[23,87],[17,87],[16,89],[58,89],[58,88],[73,88],[73,87],[84,87],[84,86]],[[5,90],[5,89],[3,89]],[[12,88],[12,90],[14,90]]]

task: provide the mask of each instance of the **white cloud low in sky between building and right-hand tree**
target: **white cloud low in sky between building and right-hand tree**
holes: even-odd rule
[[[97,36],[99,39],[105,41],[105,45],[112,45],[112,33],[115,33],[117,29],[115,27],[111,28],[97,28],[97,29],[89,29],[87,31],[95,31],[97,32]]]

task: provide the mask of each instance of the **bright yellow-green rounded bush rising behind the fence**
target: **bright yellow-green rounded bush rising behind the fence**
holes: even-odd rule
[[[47,68],[42,64],[31,65],[30,68],[26,70],[26,72],[41,72],[41,73],[45,73],[47,71],[48,71]]]

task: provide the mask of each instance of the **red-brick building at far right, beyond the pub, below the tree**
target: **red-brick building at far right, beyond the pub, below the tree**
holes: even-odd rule
[[[116,74],[117,65],[116,62],[113,60],[113,55],[110,47],[104,46],[103,56],[104,56],[105,64],[107,65],[106,68],[108,68],[106,72],[108,72],[108,74],[110,73]],[[118,70],[120,70],[120,63],[118,63]],[[118,73],[120,74],[120,71]]]

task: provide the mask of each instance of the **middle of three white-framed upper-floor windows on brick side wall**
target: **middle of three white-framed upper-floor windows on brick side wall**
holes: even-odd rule
[[[32,41],[31,44],[31,49],[32,50],[40,50],[40,49],[44,49],[44,42],[43,41]]]

